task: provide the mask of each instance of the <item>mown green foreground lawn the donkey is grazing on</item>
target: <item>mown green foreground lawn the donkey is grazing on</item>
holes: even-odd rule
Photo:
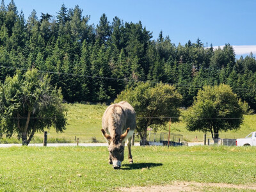
[[[113,191],[174,180],[256,183],[256,147],[132,147],[134,164],[125,158],[121,170],[108,164],[107,147],[11,147],[0,154],[0,191]]]

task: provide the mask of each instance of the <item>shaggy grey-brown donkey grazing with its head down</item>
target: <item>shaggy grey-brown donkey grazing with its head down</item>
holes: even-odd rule
[[[133,163],[131,154],[131,140],[136,128],[135,111],[132,106],[122,101],[109,106],[102,117],[102,134],[108,141],[109,164],[119,169],[124,161],[124,146],[128,140],[128,159]]]

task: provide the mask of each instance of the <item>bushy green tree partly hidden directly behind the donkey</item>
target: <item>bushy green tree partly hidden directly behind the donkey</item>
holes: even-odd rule
[[[182,97],[168,84],[138,83],[135,88],[121,92],[115,102],[121,100],[129,102],[136,111],[136,130],[142,140],[147,138],[148,126],[156,131],[169,121],[166,117],[177,117],[173,118],[173,122],[179,120]]]

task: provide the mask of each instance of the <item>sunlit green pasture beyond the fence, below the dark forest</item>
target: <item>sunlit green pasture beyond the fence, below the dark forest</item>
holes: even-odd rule
[[[75,143],[75,138],[79,138],[81,143],[90,142],[105,142],[100,129],[101,118],[108,107],[102,104],[65,104],[67,107],[67,129],[63,133],[56,133],[54,129],[50,129],[48,141],[53,143]],[[169,129],[169,124],[166,124],[166,130]],[[166,132],[161,130],[158,132]],[[256,131],[256,115],[245,115],[244,123],[238,131],[221,132],[220,138],[244,138],[250,132]],[[182,134],[185,141],[203,141],[203,132],[189,132],[186,130],[186,125],[183,122],[172,123],[171,132]],[[3,137],[1,143],[19,143],[13,136],[11,139]],[[197,139],[196,139],[197,138]],[[207,133],[207,138],[211,138],[211,134]],[[42,143],[43,134],[36,133],[31,143]],[[139,141],[139,138],[136,138]]]

